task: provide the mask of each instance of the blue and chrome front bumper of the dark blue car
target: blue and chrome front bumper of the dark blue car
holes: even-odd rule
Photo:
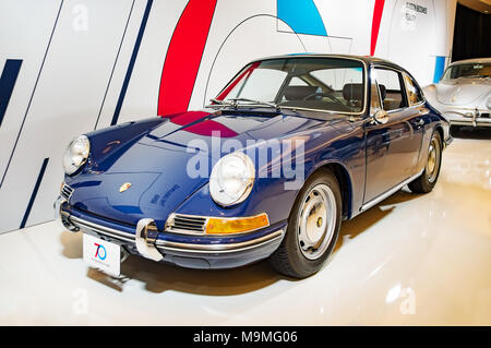
[[[55,205],[59,220],[70,231],[82,231],[119,244],[132,254],[190,268],[232,268],[266,259],[279,247],[286,230],[286,224],[276,224],[239,237],[185,236],[142,230],[142,226],[139,229],[70,209],[62,197]]]

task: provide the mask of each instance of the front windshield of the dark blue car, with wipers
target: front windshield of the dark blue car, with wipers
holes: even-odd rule
[[[359,113],[364,110],[363,63],[313,57],[253,62],[212,101]]]

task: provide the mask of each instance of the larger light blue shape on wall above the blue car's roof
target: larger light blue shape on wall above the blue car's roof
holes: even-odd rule
[[[313,0],[277,0],[277,16],[297,34],[327,36]]]

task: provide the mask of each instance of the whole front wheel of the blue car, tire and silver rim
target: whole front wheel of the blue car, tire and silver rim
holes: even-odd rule
[[[270,257],[273,267],[294,278],[316,273],[336,244],[342,206],[336,177],[325,169],[313,173],[291,208],[282,244]]]

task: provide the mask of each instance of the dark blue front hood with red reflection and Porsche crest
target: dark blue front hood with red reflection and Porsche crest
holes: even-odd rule
[[[94,153],[80,175],[65,180],[74,189],[70,204],[132,225],[140,218],[151,217],[163,227],[170,213],[208,182],[212,160],[204,168],[204,177],[190,175],[190,160],[196,154],[216,160],[221,156],[220,143],[231,141],[228,145],[244,147],[250,141],[288,137],[333,122],[335,116],[319,120],[295,112],[190,111],[119,143],[118,131],[105,137],[104,144],[96,144],[100,142],[97,136],[87,134],[91,143],[94,142]],[[218,134],[220,137],[212,136]],[[109,146],[115,143],[116,147]],[[213,146],[218,146],[218,151]],[[209,152],[204,151],[206,147]],[[125,183],[131,185],[120,192]]]

